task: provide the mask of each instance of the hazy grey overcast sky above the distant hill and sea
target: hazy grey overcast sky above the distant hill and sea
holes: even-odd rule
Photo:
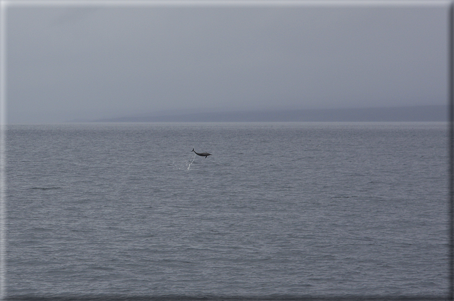
[[[8,123],[447,102],[447,2],[110,3],[10,3]]]

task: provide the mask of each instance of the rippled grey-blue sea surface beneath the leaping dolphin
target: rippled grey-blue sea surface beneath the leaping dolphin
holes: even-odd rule
[[[447,135],[446,122],[10,125],[7,299],[445,299]]]

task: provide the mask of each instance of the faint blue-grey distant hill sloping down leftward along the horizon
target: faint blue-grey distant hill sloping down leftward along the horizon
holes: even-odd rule
[[[141,115],[96,120],[96,122],[355,122],[355,121],[447,121],[447,106],[395,108],[312,109],[238,111],[175,115]]]

